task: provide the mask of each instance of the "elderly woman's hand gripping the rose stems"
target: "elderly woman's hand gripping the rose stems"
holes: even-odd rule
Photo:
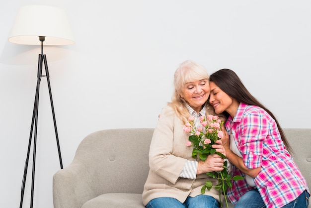
[[[216,145],[216,144],[215,144]],[[224,159],[218,154],[207,156],[205,161],[198,162],[197,174],[224,170]]]

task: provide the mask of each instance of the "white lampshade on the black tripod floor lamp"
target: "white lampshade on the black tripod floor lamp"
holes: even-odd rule
[[[46,5],[22,6],[17,13],[8,41],[23,45],[70,45],[74,38],[63,9]]]

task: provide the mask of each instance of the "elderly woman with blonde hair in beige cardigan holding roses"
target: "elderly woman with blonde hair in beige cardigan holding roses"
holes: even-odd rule
[[[201,194],[201,188],[207,180],[217,183],[206,173],[222,171],[224,159],[218,154],[209,155],[205,161],[192,158],[193,147],[186,145],[190,133],[183,131],[190,116],[199,125],[201,115],[215,115],[207,102],[209,75],[203,66],[185,61],[175,72],[174,88],[172,101],[162,109],[152,138],[143,203],[147,208],[219,208],[219,191],[213,187]],[[225,154],[221,140],[213,148]]]

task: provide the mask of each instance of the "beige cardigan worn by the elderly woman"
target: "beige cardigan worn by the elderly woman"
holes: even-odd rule
[[[212,106],[206,106],[206,115],[215,114]],[[143,203],[159,197],[171,197],[184,202],[188,196],[201,195],[206,181],[217,184],[206,174],[197,175],[195,180],[180,178],[179,175],[187,160],[192,158],[193,147],[187,147],[190,133],[182,130],[183,124],[170,106],[161,110],[149,152],[149,175],[144,186]],[[219,191],[212,188],[205,192],[219,201]],[[222,201],[224,197],[222,196]]]

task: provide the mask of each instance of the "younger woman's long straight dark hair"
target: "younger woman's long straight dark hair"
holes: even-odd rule
[[[214,82],[222,91],[228,94],[239,103],[256,105],[263,108],[275,120],[281,134],[281,138],[287,150],[292,153],[292,147],[288,143],[286,136],[273,113],[253,97],[243,85],[239,77],[231,69],[221,69],[210,75],[210,82]]]

